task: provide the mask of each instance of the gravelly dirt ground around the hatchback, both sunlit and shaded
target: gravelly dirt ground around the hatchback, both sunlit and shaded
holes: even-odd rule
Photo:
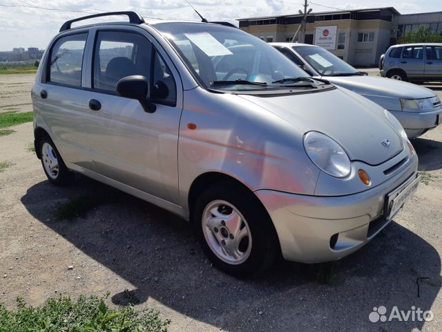
[[[0,137],[0,162],[12,163],[0,172],[0,303],[8,308],[17,296],[37,305],[109,291],[109,304],[157,308],[171,331],[441,331],[442,127],[413,141],[423,181],[367,246],[331,264],[281,261],[253,280],[212,268],[186,222],[160,208],[82,176],[53,187],[27,149],[32,124],[14,130]],[[93,204],[60,220],[70,198]],[[431,310],[434,319],[372,323],[379,306]]]

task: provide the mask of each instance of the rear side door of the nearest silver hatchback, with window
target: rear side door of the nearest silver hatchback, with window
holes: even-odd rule
[[[57,37],[46,57],[41,82],[33,89],[45,129],[64,161],[73,168],[93,167],[84,126],[89,112],[83,102],[87,38],[87,30]]]

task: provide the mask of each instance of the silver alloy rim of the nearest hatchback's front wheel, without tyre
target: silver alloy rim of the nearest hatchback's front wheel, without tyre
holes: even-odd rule
[[[228,264],[241,264],[251,252],[251,232],[240,211],[227,201],[213,201],[202,213],[202,230],[209,248]]]

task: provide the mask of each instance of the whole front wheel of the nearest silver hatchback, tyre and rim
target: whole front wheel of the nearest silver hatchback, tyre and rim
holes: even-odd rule
[[[278,254],[273,223],[258,198],[239,185],[213,185],[193,213],[198,241],[213,264],[236,277],[265,271]]]

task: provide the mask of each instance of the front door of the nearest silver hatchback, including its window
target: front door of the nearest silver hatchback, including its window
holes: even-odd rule
[[[144,30],[135,29],[96,32],[88,98],[98,102],[99,109],[88,123],[90,154],[95,172],[177,203],[182,87],[166,55]],[[155,113],[146,113],[137,100],[117,94],[118,80],[129,75],[148,79],[148,97],[156,104]],[[158,95],[158,82],[167,86],[166,95]]]

